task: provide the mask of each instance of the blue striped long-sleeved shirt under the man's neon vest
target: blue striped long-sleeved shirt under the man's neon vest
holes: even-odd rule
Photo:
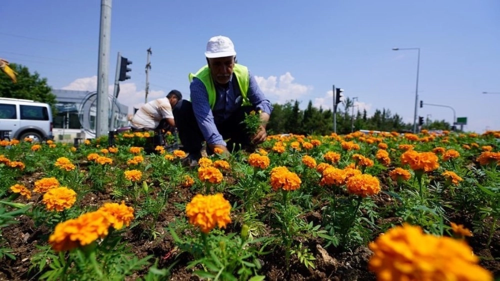
[[[257,110],[262,110],[271,114],[272,106],[264,93],[260,90],[255,78],[249,73],[250,80],[246,97]],[[243,102],[241,90],[232,74],[231,80],[227,85],[215,84],[216,99],[213,110],[208,103],[208,94],[205,85],[198,78],[193,78],[189,89],[191,91],[191,103],[194,116],[198,122],[199,129],[208,144],[226,145],[222,135],[217,130],[215,123],[220,124],[227,119]]]

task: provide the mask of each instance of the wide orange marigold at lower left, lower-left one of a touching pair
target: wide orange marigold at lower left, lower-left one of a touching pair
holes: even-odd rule
[[[110,222],[101,211],[87,212],[55,226],[48,243],[55,251],[65,251],[84,246],[107,235]]]

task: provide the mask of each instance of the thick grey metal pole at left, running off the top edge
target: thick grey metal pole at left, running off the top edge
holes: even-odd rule
[[[109,45],[111,42],[111,0],[100,1],[99,56],[97,59],[97,112],[95,136],[107,135],[109,128]]]

